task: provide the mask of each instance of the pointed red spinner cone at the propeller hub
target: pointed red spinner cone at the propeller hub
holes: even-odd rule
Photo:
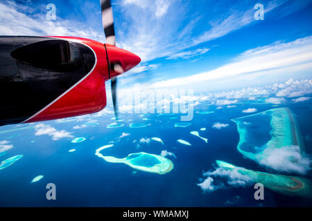
[[[128,50],[105,44],[110,66],[110,79],[124,73],[140,63],[141,58]]]

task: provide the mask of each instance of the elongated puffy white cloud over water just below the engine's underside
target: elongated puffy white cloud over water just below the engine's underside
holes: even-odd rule
[[[40,135],[49,135],[52,137],[52,140],[60,140],[61,138],[64,137],[69,137],[72,138],[73,135],[67,131],[58,131],[55,128],[53,128],[50,125],[46,124],[37,124],[35,125],[35,135],[40,136]]]

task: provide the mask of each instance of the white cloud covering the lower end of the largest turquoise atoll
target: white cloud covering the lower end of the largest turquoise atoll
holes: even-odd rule
[[[305,174],[311,169],[310,157],[299,146],[266,148],[261,155],[266,157],[258,157],[257,162],[275,171]]]

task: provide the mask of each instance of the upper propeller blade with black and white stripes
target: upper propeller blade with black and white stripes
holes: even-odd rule
[[[102,23],[105,32],[107,44],[116,46],[116,37],[114,30],[114,17],[110,0],[101,0]]]

